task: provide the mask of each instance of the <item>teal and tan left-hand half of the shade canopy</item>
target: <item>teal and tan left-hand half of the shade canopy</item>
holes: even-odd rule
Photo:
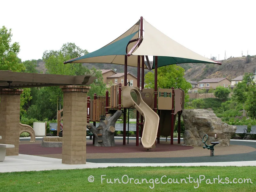
[[[64,63],[112,63],[124,65],[124,55],[126,55],[126,47],[129,51],[135,45],[136,42],[132,42],[129,44],[129,41],[139,37],[139,26],[140,21],[135,23],[123,35],[119,36],[114,41],[110,42],[104,47],[94,52],[88,53],[84,56],[65,61]],[[138,56],[133,55],[131,57],[128,57],[127,65],[137,67]],[[144,68],[147,68],[147,66],[144,65]]]

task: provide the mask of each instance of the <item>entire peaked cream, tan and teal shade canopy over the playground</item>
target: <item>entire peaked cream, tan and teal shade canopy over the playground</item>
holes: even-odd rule
[[[214,63],[221,65],[220,62],[207,59],[172,40],[150,25],[145,19],[143,19],[143,26],[143,40],[140,46],[137,46],[132,55],[128,57],[128,66],[137,67],[138,55],[154,56],[153,69],[155,68],[155,56],[158,56],[157,67],[179,63]],[[123,35],[99,50],[64,63],[112,63],[124,65],[124,56],[136,44],[136,41],[129,42],[139,37],[139,27],[140,20]],[[142,67],[141,63],[140,57],[140,67]],[[147,69],[148,67],[144,65],[144,68]]]

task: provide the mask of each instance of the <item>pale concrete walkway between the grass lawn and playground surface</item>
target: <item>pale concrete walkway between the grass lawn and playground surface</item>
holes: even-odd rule
[[[239,142],[246,142],[248,145],[255,146],[256,141],[237,141],[232,140],[232,143],[239,145]],[[202,149],[203,150],[203,149]],[[244,155],[246,156],[246,154]],[[210,156],[209,156],[210,157]],[[210,158],[215,158],[210,157]],[[171,158],[169,158],[171,159]],[[246,158],[244,158],[246,159]],[[217,160],[217,158],[215,158]],[[219,159],[221,160],[221,159]],[[154,162],[161,162],[155,159]],[[228,162],[200,162],[192,163],[91,163],[90,159],[86,164],[62,164],[61,159],[32,156],[19,154],[19,156],[6,156],[3,162],[0,162],[0,172],[20,172],[20,171],[43,171],[43,170],[59,170],[59,169],[84,169],[84,168],[98,168],[98,167],[116,167],[116,166],[256,166],[256,157],[250,161],[228,161]]]

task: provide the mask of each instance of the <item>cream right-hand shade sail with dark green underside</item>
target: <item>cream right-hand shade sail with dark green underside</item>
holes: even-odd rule
[[[143,19],[144,36],[140,47],[132,55],[158,56],[157,67],[179,63],[214,63],[220,62],[207,59],[164,35],[161,31]],[[153,62],[155,68],[155,57]]]

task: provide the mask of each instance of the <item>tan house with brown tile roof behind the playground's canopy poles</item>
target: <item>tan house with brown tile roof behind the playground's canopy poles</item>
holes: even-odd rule
[[[110,81],[114,84],[121,83],[124,85],[124,73],[116,73],[112,69],[101,69],[103,82],[109,84]],[[133,76],[131,73],[127,73],[127,83],[130,83],[130,86],[137,86],[137,77]]]

